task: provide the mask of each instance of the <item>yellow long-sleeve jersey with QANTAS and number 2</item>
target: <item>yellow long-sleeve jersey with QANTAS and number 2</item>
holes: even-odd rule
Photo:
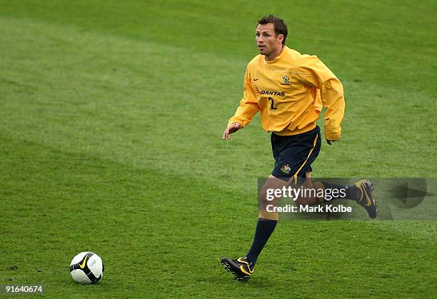
[[[284,46],[273,61],[259,54],[248,63],[243,98],[228,123],[238,122],[243,128],[261,111],[265,131],[296,135],[316,127],[322,106],[325,138],[338,140],[344,114],[341,82],[317,56]]]

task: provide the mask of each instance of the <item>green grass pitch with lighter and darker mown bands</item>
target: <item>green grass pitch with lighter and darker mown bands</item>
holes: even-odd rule
[[[0,0],[0,284],[52,298],[435,298],[436,221],[282,221],[253,278],[253,123],[221,141],[256,21],[341,79],[341,141],[313,176],[436,177],[435,1]],[[323,121],[319,123],[323,126]],[[78,285],[91,250],[104,278]]]

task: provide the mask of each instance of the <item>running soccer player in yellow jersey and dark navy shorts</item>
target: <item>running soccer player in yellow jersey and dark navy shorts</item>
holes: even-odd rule
[[[276,16],[264,16],[256,27],[259,54],[246,68],[243,98],[228,121],[223,140],[247,126],[260,111],[263,129],[271,132],[275,165],[261,189],[278,188],[298,178],[311,178],[311,163],[321,148],[320,128],[316,125],[322,106],[325,113],[325,138],[331,145],[341,137],[344,113],[343,86],[317,56],[302,55],[286,46],[287,26]],[[311,179],[310,179],[311,180]],[[346,198],[366,208],[376,217],[372,184],[358,181],[353,186],[315,182],[313,188],[344,188]],[[262,196],[261,196],[262,197]],[[301,198],[298,204],[313,205],[324,198]],[[262,206],[262,202],[261,202]],[[239,281],[251,278],[253,267],[276,227],[278,213],[260,208],[253,243],[243,258],[222,258],[221,264]]]

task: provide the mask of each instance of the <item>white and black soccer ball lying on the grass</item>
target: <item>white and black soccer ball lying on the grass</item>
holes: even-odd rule
[[[70,274],[76,283],[96,283],[101,280],[104,269],[100,256],[89,251],[79,253],[70,263]]]

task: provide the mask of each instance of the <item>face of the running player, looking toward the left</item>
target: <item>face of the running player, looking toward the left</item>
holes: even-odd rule
[[[275,36],[273,23],[256,26],[256,46],[258,46],[259,54],[265,55],[267,60],[274,59],[281,54],[282,40],[282,34]]]

